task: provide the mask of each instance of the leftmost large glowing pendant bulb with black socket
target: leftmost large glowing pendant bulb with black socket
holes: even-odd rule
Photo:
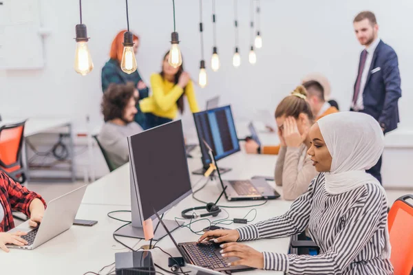
[[[87,47],[87,30],[85,24],[76,25],[76,52],[74,54],[74,71],[82,76],[92,72],[93,63]]]

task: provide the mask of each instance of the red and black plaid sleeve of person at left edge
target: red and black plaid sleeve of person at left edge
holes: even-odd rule
[[[6,184],[12,210],[20,211],[30,217],[30,203],[32,203],[33,199],[40,199],[44,206],[46,206],[44,199],[40,195],[29,191],[28,188],[21,186],[4,173],[1,173],[0,177],[3,178],[2,180]]]

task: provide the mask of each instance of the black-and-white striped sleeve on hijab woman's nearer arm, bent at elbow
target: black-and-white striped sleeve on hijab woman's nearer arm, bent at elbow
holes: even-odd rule
[[[336,234],[335,243],[328,251],[317,256],[288,254],[288,274],[342,274],[346,270],[386,219],[383,192],[372,184],[366,189],[367,192],[350,208],[346,225]],[[321,234],[330,232],[325,230]],[[273,266],[284,267],[284,259],[276,260],[282,263]]]

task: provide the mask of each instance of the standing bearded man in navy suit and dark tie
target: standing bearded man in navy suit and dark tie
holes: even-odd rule
[[[354,84],[350,111],[368,113],[388,133],[399,123],[398,101],[401,97],[399,62],[396,52],[379,39],[376,17],[360,12],[353,21],[354,32],[365,47],[360,54],[359,71]],[[367,172],[381,183],[381,158]]]

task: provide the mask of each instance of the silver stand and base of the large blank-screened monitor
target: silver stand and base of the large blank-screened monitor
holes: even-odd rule
[[[129,172],[130,172],[130,185],[131,185],[131,217],[132,221],[128,225],[125,225],[120,230],[114,232],[115,236],[127,236],[129,238],[145,239],[145,234],[143,232],[142,219],[140,217],[140,203],[138,203],[138,190],[136,189],[134,181],[134,172],[131,168],[131,162],[129,162]],[[162,219],[162,221],[167,225],[169,232],[176,230],[181,225],[184,224],[183,221],[171,221],[167,219]],[[152,220],[153,229],[156,228],[158,224],[158,219]],[[158,226],[155,234],[153,235],[153,241],[158,241],[167,235],[165,228]]]

